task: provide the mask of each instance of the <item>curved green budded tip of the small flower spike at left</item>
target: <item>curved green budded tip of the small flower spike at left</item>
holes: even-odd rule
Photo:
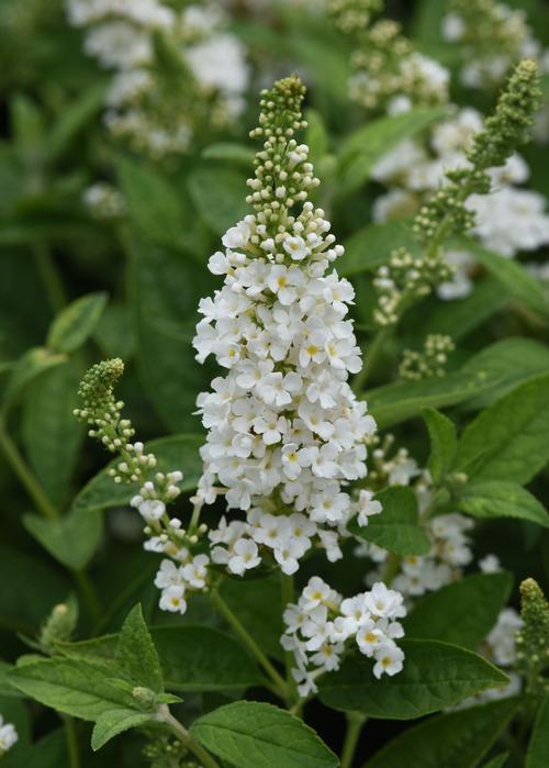
[[[122,419],[122,400],[115,400],[114,386],[124,372],[120,358],[102,360],[92,366],[83,377],[78,394],[83,408],[75,409],[74,414],[90,425],[88,434],[99,439],[111,453],[120,453],[123,460],[111,475],[115,482],[136,482],[143,471],[156,466],[156,457],[145,454],[142,443],[132,443],[135,430],[128,419]]]

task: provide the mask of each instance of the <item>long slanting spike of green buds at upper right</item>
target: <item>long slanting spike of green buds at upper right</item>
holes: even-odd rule
[[[501,94],[495,112],[467,153],[468,167],[446,174],[447,183],[423,205],[412,231],[424,255],[414,257],[400,248],[391,254],[389,265],[379,268],[374,287],[379,292],[374,320],[379,325],[394,325],[403,312],[433,288],[451,278],[452,270],[444,253],[444,241],[474,224],[467,199],[490,192],[489,168],[504,165],[518,145],[528,138],[533,115],[540,103],[539,71],[535,62],[520,62]]]

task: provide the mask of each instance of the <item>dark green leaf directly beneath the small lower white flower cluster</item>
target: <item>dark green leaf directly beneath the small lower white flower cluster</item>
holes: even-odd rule
[[[337,672],[323,678],[321,700],[369,717],[411,720],[508,682],[490,661],[457,645],[403,639],[399,646],[405,654],[401,672],[376,680],[371,659],[349,657]]]

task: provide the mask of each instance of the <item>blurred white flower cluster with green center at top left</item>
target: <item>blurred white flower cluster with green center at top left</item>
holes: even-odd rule
[[[245,49],[214,2],[67,0],[85,51],[114,73],[104,120],[154,157],[188,152],[201,124],[226,127],[244,109]]]

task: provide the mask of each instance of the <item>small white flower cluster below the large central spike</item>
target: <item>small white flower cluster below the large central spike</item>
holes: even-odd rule
[[[402,594],[382,582],[344,600],[323,579],[311,578],[298,603],[289,604],[283,613],[281,644],[294,655],[292,675],[299,694],[316,693],[315,680],[338,669],[350,647],[373,659],[378,679],[400,672],[404,652],[395,641],[404,636],[397,620],[405,615]]]

